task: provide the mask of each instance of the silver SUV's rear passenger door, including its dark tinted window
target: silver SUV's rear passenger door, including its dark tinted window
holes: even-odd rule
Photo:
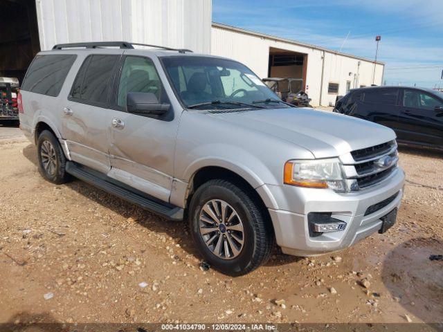
[[[109,100],[121,52],[88,55],[63,105],[63,137],[72,160],[109,172]]]

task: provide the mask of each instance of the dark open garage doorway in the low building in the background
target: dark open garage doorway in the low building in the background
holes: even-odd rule
[[[299,89],[306,90],[307,54],[282,50],[280,48],[269,48],[269,70],[268,77],[296,78],[291,84],[299,84]],[[293,86],[295,90],[296,86]]]

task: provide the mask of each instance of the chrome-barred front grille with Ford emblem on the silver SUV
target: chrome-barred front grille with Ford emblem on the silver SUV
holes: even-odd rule
[[[398,154],[395,140],[341,157],[347,189],[362,190],[386,180],[397,169]]]

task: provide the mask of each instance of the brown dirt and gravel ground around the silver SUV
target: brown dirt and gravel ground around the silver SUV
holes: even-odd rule
[[[443,255],[443,154],[400,160],[406,196],[386,234],[315,259],[275,250],[230,278],[201,270],[182,223],[44,181],[35,147],[0,128],[0,322],[443,322],[443,261],[428,259]]]

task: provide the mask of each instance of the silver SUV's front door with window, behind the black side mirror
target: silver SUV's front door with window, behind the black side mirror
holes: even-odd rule
[[[152,59],[125,55],[117,80],[116,107],[112,111],[112,123],[108,123],[111,159],[108,175],[162,201],[169,201],[178,117],[174,117],[172,108],[163,116],[127,113],[129,92],[154,93],[160,102],[169,103]]]

